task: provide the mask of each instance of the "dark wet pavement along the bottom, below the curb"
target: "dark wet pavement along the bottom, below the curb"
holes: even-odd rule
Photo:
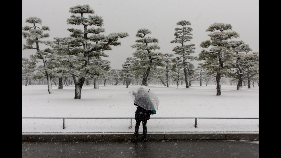
[[[231,140],[22,141],[22,158],[258,158],[259,142]]]

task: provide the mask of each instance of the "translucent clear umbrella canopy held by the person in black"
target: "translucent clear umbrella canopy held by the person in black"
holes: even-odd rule
[[[132,97],[134,103],[145,110],[158,110],[159,99],[149,87],[144,85],[134,85],[131,86],[130,92],[128,93]]]

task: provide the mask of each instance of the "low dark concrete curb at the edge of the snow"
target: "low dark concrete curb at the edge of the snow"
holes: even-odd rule
[[[139,137],[141,137],[141,133]],[[132,140],[133,133],[22,133],[22,141]],[[258,132],[147,133],[148,140],[259,141]]]

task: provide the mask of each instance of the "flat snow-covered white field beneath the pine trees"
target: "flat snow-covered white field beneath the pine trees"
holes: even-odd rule
[[[153,119],[155,117],[259,117],[259,87],[222,85],[216,96],[216,85],[149,85],[160,100],[157,114],[147,122],[149,132],[258,132],[259,119]],[[84,85],[81,99],[74,100],[74,86],[22,85],[22,117],[134,117],[136,106],[126,85]],[[129,119],[22,119],[22,133],[98,133],[134,132],[135,120]],[[140,126],[142,132],[142,125]]]

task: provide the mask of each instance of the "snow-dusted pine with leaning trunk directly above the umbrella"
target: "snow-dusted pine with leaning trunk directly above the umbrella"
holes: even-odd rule
[[[136,40],[137,44],[132,45],[132,48],[136,48],[133,56],[137,58],[134,62],[135,71],[137,74],[143,76],[141,85],[147,85],[147,79],[150,75],[151,69],[156,69],[157,66],[163,67],[161,52],[154,52],[159,50],[160,47],[155,44],[158,43],[158,39],[146,37],[145,35],[151,34],[148,29],[139,29],[136,33],[136,37],[140,38]]]

